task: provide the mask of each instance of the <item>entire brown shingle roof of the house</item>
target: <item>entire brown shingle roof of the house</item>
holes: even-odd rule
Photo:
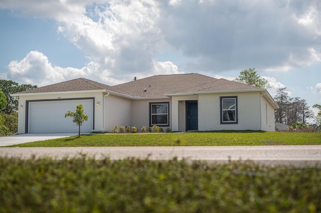
[[[248,84],[214,77],[190,73],[154,75],[138,80],[133,80],[119,85],[109,86],[85,78],[77,78],[21,93],[38,92],[61,92],[61,91],[82,91],[82,90],[108,90],[132,97],[164,97],[166,94],[186,93],[190,91],[227,91],[227,90],[251,90],[261,89]]]

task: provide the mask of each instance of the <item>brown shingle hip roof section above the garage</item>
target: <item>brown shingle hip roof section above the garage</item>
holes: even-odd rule
[[[59,91],[81,91],[81,90],[100,90],[106,89],[115,92],[122,92],[112,86],[98,83],[93,80],[88,80],[86,78],[77,78],[73,80],[67,80],[60,83],[55,83],[47,86],[42,86],[26,91],[17,92],[19,93],[37,93],[37,92],[59,92]]]

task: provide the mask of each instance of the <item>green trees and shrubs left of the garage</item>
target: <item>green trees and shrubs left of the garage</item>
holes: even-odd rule
[[[37,85],[19,85],[12,80],[0,80],[0,136],[18,132],[18,99],[11,94],[33,88],[37,88]]]

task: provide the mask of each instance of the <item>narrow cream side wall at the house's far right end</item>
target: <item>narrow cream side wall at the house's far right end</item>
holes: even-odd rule
[[[261,130],[275,131],[274,107],[264,96],[261,96]]]

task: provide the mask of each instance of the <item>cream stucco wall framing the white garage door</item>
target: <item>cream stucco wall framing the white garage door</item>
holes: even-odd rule
[[[94,112],[95,112],[95,129],[102,128],[102,103],[103,103],[103,92],[82,92],[82,93],[61,93],[61,94],[41,94],[41,95],[21,95],[19,96],[19,106],[18,106],[18,133],[26,133],[26,101],[27,100],[47,100],[47,99],[65,99],[65,98],[84,98],[84,97],[94,97]],[[99,101],[99,105],[96,103]],[[23,105],[22,109],[20,108]],[[71,108],[70,110],[76,110]]]

